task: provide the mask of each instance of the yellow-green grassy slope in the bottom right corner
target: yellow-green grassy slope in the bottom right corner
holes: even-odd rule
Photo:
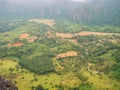
[[[93,84],[93,89],[92,90],[119,90],[119,85],[120,83],[109,79],[105,75],[93,75],[90,74],[89,72],[85,71],[84,76],[88,77],[88,82]]]

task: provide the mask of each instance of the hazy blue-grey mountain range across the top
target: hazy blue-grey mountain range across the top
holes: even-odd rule
[[[0,18],[54,18],[120,26],[120,0],[0,0]]]

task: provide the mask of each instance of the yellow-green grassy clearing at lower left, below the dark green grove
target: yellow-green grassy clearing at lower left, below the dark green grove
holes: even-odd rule
[[[16,69],[16,66],[19,67]],[[9,69],[12,68],[11,72]],[[0,60],[0,75],[12,80],[19,90],[31,90],[32,86],[41,84],[49,90],[56,90],[55,85],[60,84],[60,76],[55,73],[37,75],[18,65],[11,60]]]

